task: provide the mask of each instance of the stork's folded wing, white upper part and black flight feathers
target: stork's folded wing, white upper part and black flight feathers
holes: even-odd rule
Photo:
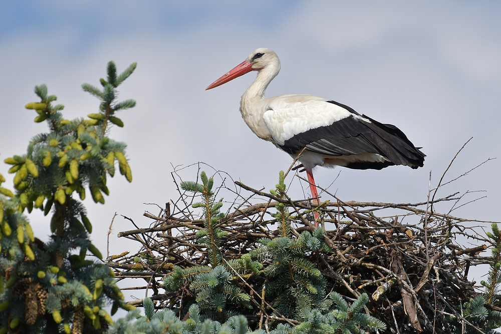
[[[309,103],[312,102],[308,101],[306,105]],[[355,169],[381,169],[390,165],[412,168],[423,166],[425,154],[396,126],[379,123],[335,101],[313,103],[320,104],[320,107],[313,110],[310,105],[310,115],[302,110],[300,104],[295,108],[300,116],[291,117],[289,113],[289,117],[284,117],[287,121],[282,123],[277,122],[277,119],[280,118],[278,115],[285,112],[284,109],[265,113],[267,125],[267,116],[269,120],[274,118],[275,128],[270,129],[272,136],[276,144],[287,153],[297,154],[306,148],[326,159],[334,158],[332,161],[337,161],[336,157],[349,157],[348,161],[351,163],[338,159],[339,164]],[[312,118],[313,122],[308,122],[308,118]],[[381,156],[383,159],[374,159],[374,156]]]

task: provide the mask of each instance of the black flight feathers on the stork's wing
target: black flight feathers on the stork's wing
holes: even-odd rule
[[[327,101],[360,116],[352,108]],[[388,162],[355,162],[346,166],[355,169],[381,169],[389,165],[423,166],[425,155],[419,151],[396,126],[379,123],[365,115],[366,122],[347,117],[325,127],[311,129],[285,141],[281,148],[288,153],[297,153],[304,147],[308,151],[328,156],[360,155],[376,153],[388,158]]]

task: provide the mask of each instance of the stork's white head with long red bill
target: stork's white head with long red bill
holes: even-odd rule
[[[261,71],[266,68],[273,68],[274,72],[278,73],[280,70],[279,56],[277,56],[273,50],[259,48],[250,54],[245,61],[238,64],[221,78],[214,81],[205,90],[225,84],[228,81],[238,78],[239,76],[242,76],[250,71]]]

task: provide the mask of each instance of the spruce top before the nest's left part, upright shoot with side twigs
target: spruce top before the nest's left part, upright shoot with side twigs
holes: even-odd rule
[[[196,232],[198,245],[207,250],[207,260],[204,265],[194,265],[182,268],[174,267],[171,275],[164,278],[163,286],[168,291],[189,288],[195,298],[173,298],[171,305],[176,305],[178,314],[184,317],[189,307],[196,303],[202,319],[224,321],[239,314],[241,307],[252,308],[250,297],[237,284],[237,277],[230,272],[233,268],[240,274],[259,274],[261,263],[252,261],[249,256],[242,259],[224,261],[220,253],[221,238],[227,233],[219,227],[224,214],[220,212],[222,202],[216,202],[212,187],[213,178],[208,178],[205,172],[200,173],[201,184],[187,181],[181,183],[181,188],[201,196],[201,202],[192,204],[193,208],[202,208],[203,227]]]

